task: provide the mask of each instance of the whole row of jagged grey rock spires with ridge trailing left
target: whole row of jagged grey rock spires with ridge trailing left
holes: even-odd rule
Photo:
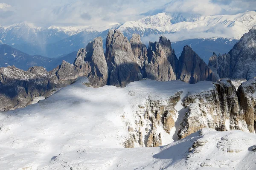
[[[6,104],[0,103],[2,106],[1,110],[9,110],[17,108],[17,106],[24,107],[27,105],[25,103],[32,101],[32,98],[47,97],[52,94],[50,91],[56,91],[58,88],[70,85],[78,77],[88,77],[90,84],[94,88],[104,85],[125,87],[128,83],[142,78],[157,81],[180,79],[189,83],[203,80],[215,81],[214,74],[212,74],[203,60],[191,48],[185,47],[184,49],[184,55],[178,60],[170,40],[167,40],[166,37],[161,36],[158,42],[150,42],[147,49],[146,45],[141,42],[140,35],[134,34],[129,42],[121,31],[110,30],[106,39],[105,54],[102,38],[95,38],[86,48],[79,49],[73,64],[63,61],[61,65],[52,71],[45,71],[45,76],[40,78],[41,89],[33,88],[34,90],[31,91],[27,84],[16,83],[19,84],[19,89],[29,90],[26,94],[17,90],[16,96],[23,94],[25,98],[26,96],[30,97],[23,100],[23,104],[21,104],[20,100],[16,100],[16,98],[10,100],[18,102],[12,102],[8,107],[6,107]],[[192,65],[190,61],[193,61]],[[39,69],[38,67],[35,68]],[[11,69],[9,74],[12,75],[14,72]],[[30,70],[19,70],[18,72],[31,74]],[[3,73],[0,72],[0,74]],[[6,74],[6,77],[10,75]],[[15,80],[11,77],[5,81],[2,80],[2,89],[5,89],[6,85],[12,86],[13,81],[21,79],[22,77],[18,76]],[[27,77],[26,81],[35,83],[39,81],[38,79]],[[6,94],[12,95],[12,92],[5,92],[5,95],[2,96],[5,98],[4,101],[9,98]],[[19,105],[17,105],[18,103]],[[169,119],[165,121],[166,124],[170,123]],[[169,127],[166,126],[166,129],[169,129]]]

